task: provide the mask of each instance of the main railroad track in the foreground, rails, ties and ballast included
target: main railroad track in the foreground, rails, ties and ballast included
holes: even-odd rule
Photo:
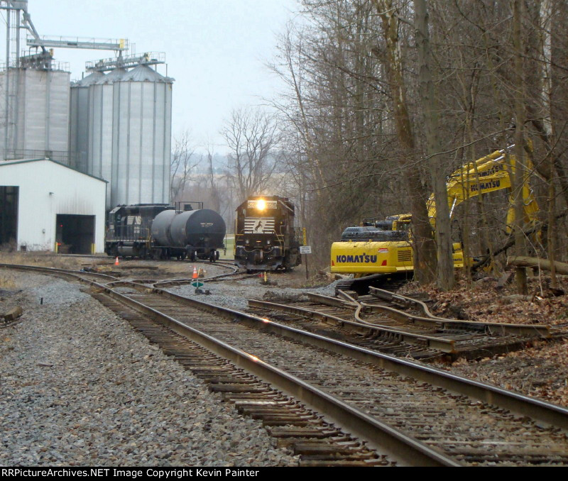
[[[212,389],[242,401],[238,409],[277,426],[275,437],[298,446],[307,465],[568,464],[567,409],[160,289],[119,294],[88,282],[124,317],[158,322],[139,327],[197,365]],[[236,373],[201,348],[186,351],[191,342],[238,365]]]

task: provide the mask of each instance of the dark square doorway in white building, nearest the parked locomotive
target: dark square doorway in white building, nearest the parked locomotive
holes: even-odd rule
[[[91,254],[94,216],[58,214],[55,240],[62,254]]]

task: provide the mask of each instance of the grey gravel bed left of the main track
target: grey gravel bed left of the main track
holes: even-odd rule
[[[0,312],[24,314],[0,329],[0,465],[297,465],[80,285],[10,277]]]

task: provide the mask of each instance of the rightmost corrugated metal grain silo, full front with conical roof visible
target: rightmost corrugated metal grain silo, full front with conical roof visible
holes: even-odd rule
[[[142,64],[114,82],[112,205],[170,201],[172,84]]]

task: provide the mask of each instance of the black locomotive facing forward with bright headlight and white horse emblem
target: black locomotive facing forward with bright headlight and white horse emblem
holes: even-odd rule
[[[236,209],[235,264],[247,272],[293,269],[302,262],[300,245],[302,231],[286,197],[253,196]]]

